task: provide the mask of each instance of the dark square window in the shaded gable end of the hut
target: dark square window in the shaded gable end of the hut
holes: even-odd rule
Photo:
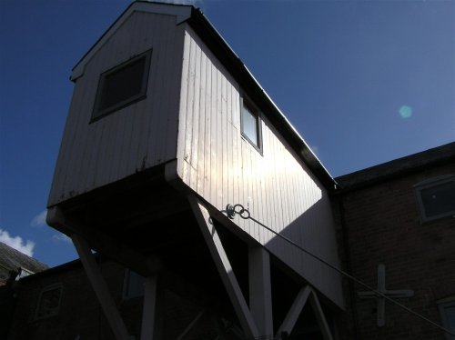
[[[136,55],[99,76],[92,121],[147,96],[152,50]]]

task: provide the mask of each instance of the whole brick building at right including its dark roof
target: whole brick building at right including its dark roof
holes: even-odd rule
[[[452,332],[454,160],[455,143],[442,145],[343,175],[334,196],[349,273],[375,288],[383,275],[386,290],[411,295],[396,294],[399,303]],[[349,283],[349,289],[346,339],[454,339],[397,305],[386,302],[382,312],[380,299],[360,298],[364,287]]]

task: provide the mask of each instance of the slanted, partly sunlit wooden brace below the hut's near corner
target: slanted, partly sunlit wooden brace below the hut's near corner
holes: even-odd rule
[[[191,209],[196,216],[197,224],[206,240],[208,249],[212,258],[217,265],[217,270],[221,276],[221,280],[226,287],[227,295],[236,311],[238,321],[247,338],[257,338],[258,328],[254,322],[251,313],[248,310],[248,305],[245,297],[240,290],[236,275],[232,271],[232,266],[229,263],[226,252],[221,244],[221,240],[217,234],[215,225],[210,220],[210,215],[204,205],[201,205],[197,198],[193,195],[188,195],[188,201]]]

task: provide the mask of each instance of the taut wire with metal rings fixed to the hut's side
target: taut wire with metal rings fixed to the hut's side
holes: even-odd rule
[[[318,255],[314,255],[313,253],[309,252],[307,249],[305,249],[305,248],[301,247],[300,245],[296,244],[294,241],[292,241],[288,237],[278,234],[275,230],[271,229],[267,225],[262,224],[256,218],[251,217],[251,215],[249,214],[248,209],[246,209],[243,205],[240,205],[240,204],[227,205],[226,206],[226,213],[227,213],[227,217],[229,217],[231,220],[234,219],[235,215],[239,215],[240,218],[242,218],[244,220],[250,219],[251,221],[257,223],[258,225],[261,225],[262,227],[266,228],[272,234],[277,235],[278,237],[280,237],[284,241],[288,242],[289,244],[294,245],[296,248],[298,248],[299,250],[301,250],[305,254],[313,257],[314,259],[318,260],[319,262],[323,263],[324,265],[329,266],[329,268],[335,270],[340,275],[343,275],[343,276],[347,277],[349,280],[355,282],[358,285],[361,285],[362,287],[364,287],[365,289],[369,290],[370,292],[373,292],[374,294],[384,298],[385,300],[389,301],[393,305],[399,306],[401,309],[404,309],[405,311],[407,311],[411,315],[419,317],[421,320],[429,323],[430,325],[433,325],[436,328],[439,328],[441,331],[443,331],[443,332],[445,332],[445,333],[447,333],[449,335],[455,335],[455,333],[453,333],[449,329],[447,329],[447,328],[445,328],[445,327],[443,327],[443,326],[431,321],[430,319],[428,319],[427,317],[425,317],[423,315],[420,315],[419,313],[413,311],[412,309],[410,309],[406,305],[400,304],[399,302],[397,302],[394,299],[390,298],[388,295],[385,295],[385,294],[379,292],[377,289],[371,287],[370,285],[367,285],[367,284],[363,283],[362,281],[360,281],[358,278],[354,277],[353,275],[350,275],[349,273],[345,272],[344,270],[339,269],[338,266],[330,264],[329,262],[327,262],[323,258],[319,257]]]

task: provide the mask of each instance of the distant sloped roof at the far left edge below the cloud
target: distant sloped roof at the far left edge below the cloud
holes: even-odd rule
[[[17,271],[17,268],[25,269],[31,273],[38,273],[48,267],[48,265],[35,260],[35,258],[0,242],[0,285],[5,285],[9,278],[9,272],[12,270]]]

